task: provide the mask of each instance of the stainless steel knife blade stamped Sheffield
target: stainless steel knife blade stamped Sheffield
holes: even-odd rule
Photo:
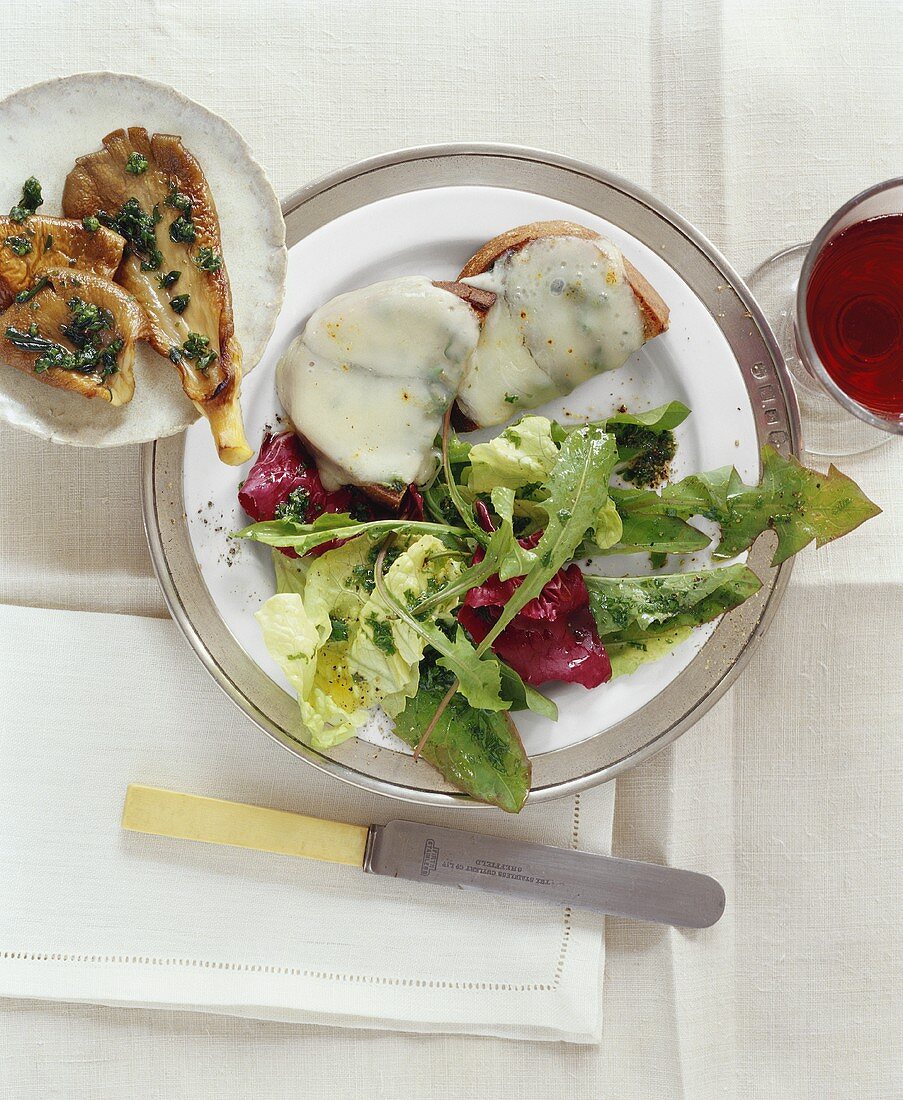
[[[686,928],[715,924],[725,909],[720,884],[696,871],[419,822],[372,826],[364,870]]]

